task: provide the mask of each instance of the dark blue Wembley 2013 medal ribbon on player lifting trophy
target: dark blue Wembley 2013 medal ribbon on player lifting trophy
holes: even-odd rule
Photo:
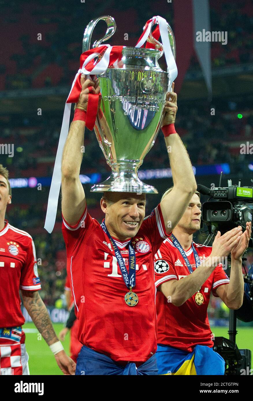
[[[136,258],[135,258],[135,250],[133,248],[131,241],[129,242],[129,248],[128,248],[128,250],[129,250],[129,272],[128,272],[126,269],[125,263],[124,263],[124,259],[122,258],[122,255],[120,253],[120,250],[118,249],[114,239],[111,237],[110,233],[108,232],[106,225],[104,223],[104,220],[102,221],[101,227],[110,239],[110,242],[112,244],[115,256],[117,258],[118,265],[120,267],[120,271],[121,271],[122,277],[124,279],[124,282],[126,284],[126,287],[133,288],[135,286]]]

